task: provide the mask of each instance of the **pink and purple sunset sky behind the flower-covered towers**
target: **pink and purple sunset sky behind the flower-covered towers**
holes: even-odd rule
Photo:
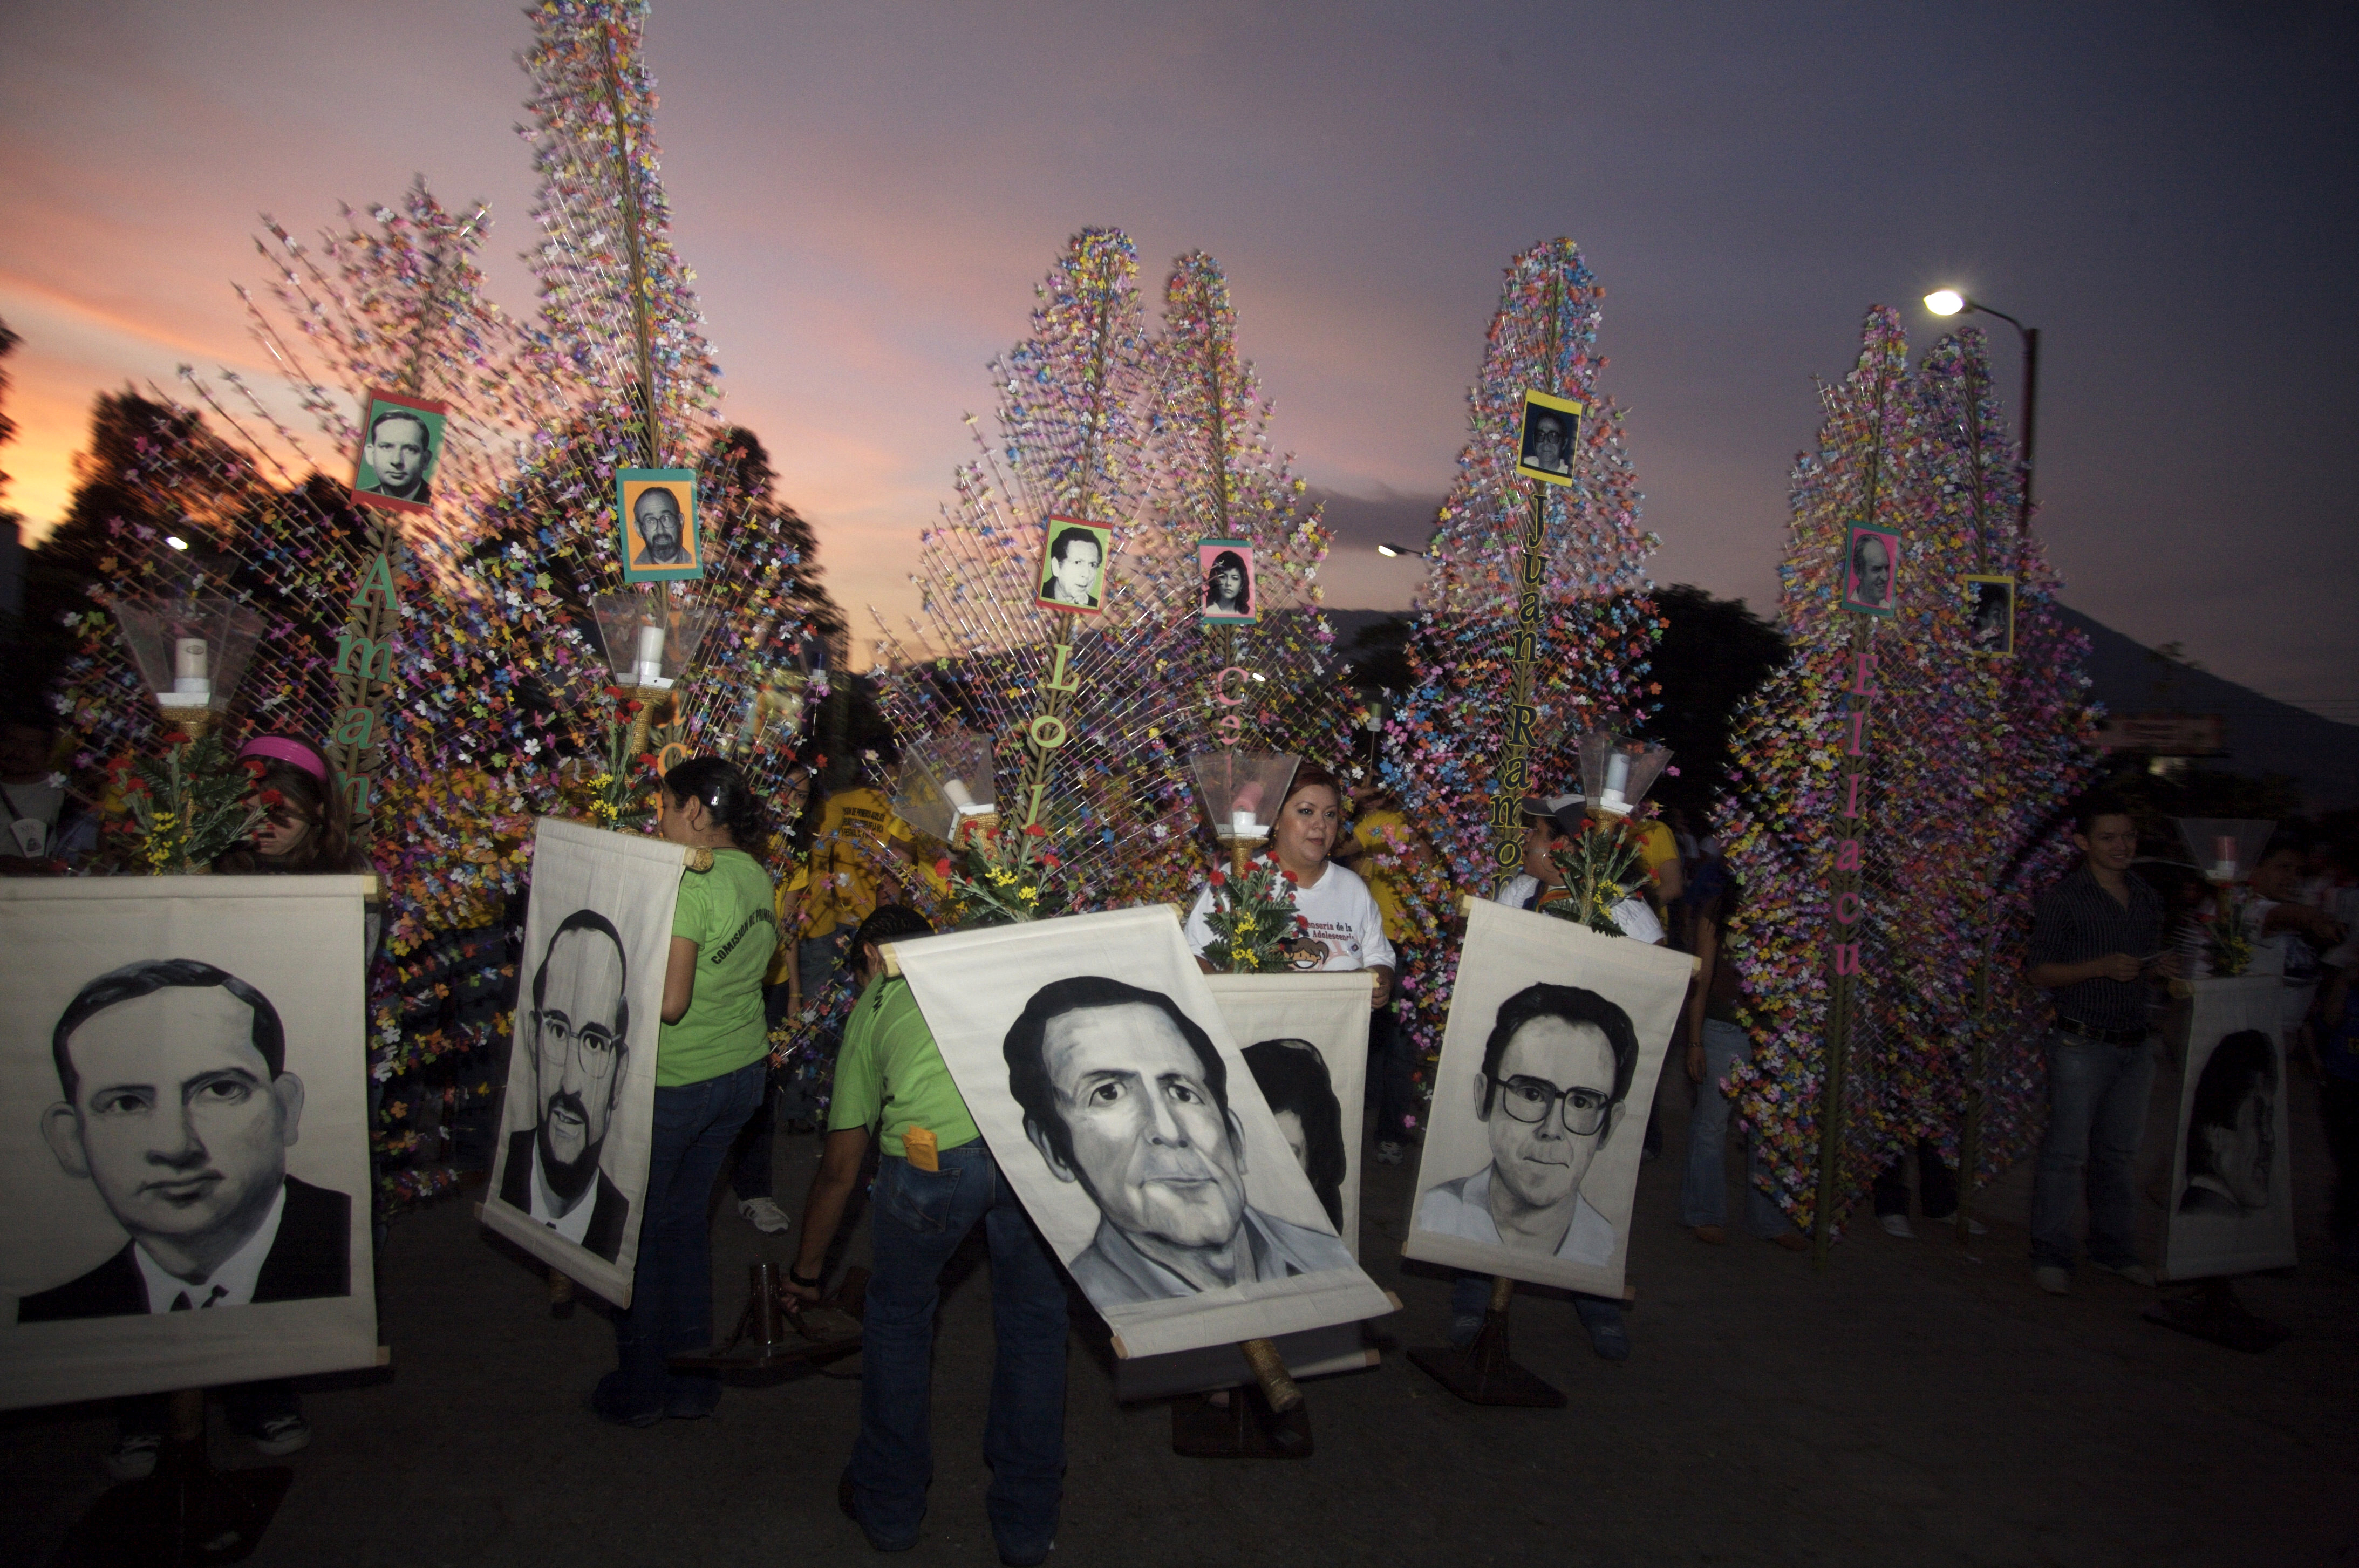
[[[9,5],[5,505],[61,512],[104,389],[269,377],[231,292],[269,276],[257,212],[309,236],[425,174],[491,200],[528,311],[526,38],[495,0]],[[663,0],[646,52],[724,413],[861,627],[913,604],[984,361],[1083,224],[1132,236],[1149,297],[1220,257],[1276,441],[1397,519],[1448,486],[1500,266],[1562,233],[1606,285],[1658,582],[1774,604],[1812,377],[1868,304],[1930,344],[1946,283],[2043,328],[2066,601],[2359,717],[2352,7]],[[1330,604],[1406,601],[1378,531]]]

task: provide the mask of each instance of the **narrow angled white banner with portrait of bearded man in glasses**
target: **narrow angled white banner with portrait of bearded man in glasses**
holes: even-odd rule
[[[484,1224],[630,1306],[684,849],[545,816]]]

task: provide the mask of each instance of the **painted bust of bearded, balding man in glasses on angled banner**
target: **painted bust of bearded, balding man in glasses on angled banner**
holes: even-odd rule
[[[599,1167],[630,1059],[630,967],[623,934],[573,910],[533,969],[533,1099],[538,1122],[512,1132],[500,1200],[613,1261],[630,1200]]]

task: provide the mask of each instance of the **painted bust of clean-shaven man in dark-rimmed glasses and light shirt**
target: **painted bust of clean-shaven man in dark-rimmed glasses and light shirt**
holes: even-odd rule
[[[1637,1030],[1611,1000],[1548,983],[1510,995],[1474,1075],[1491,1162],[1427,1191],[1418,1228],[1606,1266],[1614,1221],[1581,1195],[1581,1181],[1635,1073]]]

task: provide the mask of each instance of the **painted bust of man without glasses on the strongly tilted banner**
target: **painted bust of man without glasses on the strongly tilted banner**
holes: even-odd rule
[[[1352,1269],[1345,1245],[1246,1203],[1229,1070],[1177,1002],[1104,976],[1043,986],[1007,1028],[1024,1137],[1097,1205],[1066,1266],[1099,1306]]]

